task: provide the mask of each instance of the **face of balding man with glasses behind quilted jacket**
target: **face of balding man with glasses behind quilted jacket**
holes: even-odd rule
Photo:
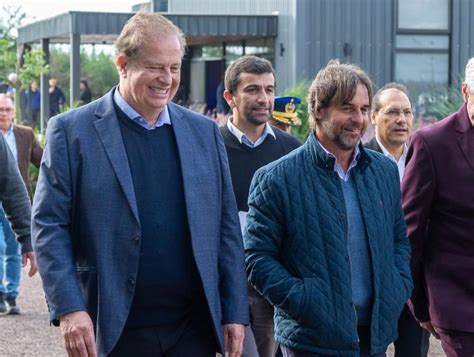
[[[380,95],[380,109],[372,113],[372,124],[377,138],[387,149],[403,146],[411,133],[413,112],[410,100],[394,88]]]

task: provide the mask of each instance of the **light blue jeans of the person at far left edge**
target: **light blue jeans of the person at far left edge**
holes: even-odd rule
[[[21,275],[20,244],[16,241],[3,209],[0,208],[0,293],[5,298],[18,296]]]

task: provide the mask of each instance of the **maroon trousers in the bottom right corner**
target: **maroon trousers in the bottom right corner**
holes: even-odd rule
[[[438,328],[441,347],[447,357],[474,356],[474,332],[463,332]]]

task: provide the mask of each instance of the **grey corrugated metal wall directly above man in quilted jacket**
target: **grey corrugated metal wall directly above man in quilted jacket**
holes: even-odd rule
[[[298,80],[339,58],[360,65],[377,86],[391,81],[392,0],[298,0],[296,16]]]

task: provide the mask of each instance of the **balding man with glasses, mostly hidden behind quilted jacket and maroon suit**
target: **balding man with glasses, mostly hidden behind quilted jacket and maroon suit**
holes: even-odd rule
[[[401,181],[413,125],[412,105],[403,84],[388,83],[375,93],[371,121],[375,127],[375,136],[365,146],[393,160]],[[395,357],[428,355],[429,333],[420,327],[408,305],[405,305],[398,320],[398,338],[394,345]]]

